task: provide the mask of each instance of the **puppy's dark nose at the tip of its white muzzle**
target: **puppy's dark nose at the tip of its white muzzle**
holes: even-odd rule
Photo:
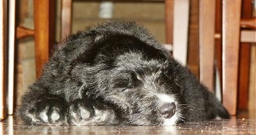
[[[172,118],[172,116],[176,112],[176,106],[174,102],[163,104],[163,106],[159,107],[159,114],[163,115],[164,118]]]

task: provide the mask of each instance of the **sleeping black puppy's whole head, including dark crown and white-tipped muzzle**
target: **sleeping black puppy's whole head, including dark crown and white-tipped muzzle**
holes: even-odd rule
[[[97,97],[123,125],[173,125],[184,118],[175,61],[132,36],[104,40],[95,56]]]

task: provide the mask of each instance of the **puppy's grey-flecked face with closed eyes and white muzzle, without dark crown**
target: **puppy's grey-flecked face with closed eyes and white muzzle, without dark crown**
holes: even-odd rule
[[[173,125],[182,120],[182,91],[170,64],[132,52],[117,58],[105,99],[122,111],[125,123]]]

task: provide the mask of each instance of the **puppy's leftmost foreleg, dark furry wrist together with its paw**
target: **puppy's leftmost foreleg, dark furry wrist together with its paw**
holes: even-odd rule
[[[51,95],[31,86],[23,97],[18,115],[24,122],[36,125],[63,125],[67,123],[67,102],[58,95]]]

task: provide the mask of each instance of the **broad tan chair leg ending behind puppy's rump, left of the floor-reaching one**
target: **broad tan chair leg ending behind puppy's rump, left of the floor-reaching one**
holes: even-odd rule
[[[215,1],[199,2],[200,81],[214,90]]]

